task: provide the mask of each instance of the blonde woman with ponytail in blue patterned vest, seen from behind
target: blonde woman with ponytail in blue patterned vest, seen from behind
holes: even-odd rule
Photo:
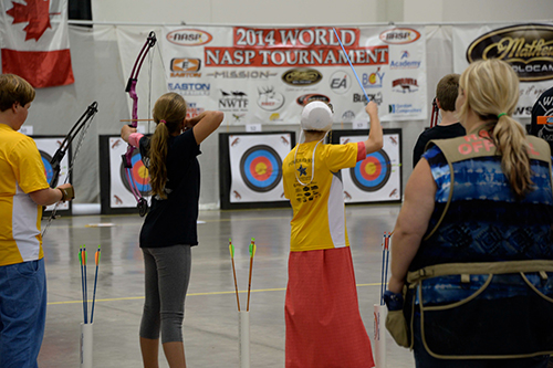
[[[551,151],[511,117],[518,99],[509,64],[469,65],[467,135],[432,141],[407,182],[387,301],[405,297],[417,367],[542,368],[553,351]]]

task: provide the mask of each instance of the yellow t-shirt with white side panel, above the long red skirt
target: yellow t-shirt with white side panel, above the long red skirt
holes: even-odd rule
[[[324,145],[315,151],[316,141],[295,147],[282,162],[284,196],[290,200],[294,217],[290,251],[313,251],[349,246],[345,224],[344,189],[341,169],[351,168],[366,157],[362,144]],[[295,162],[294,162],[295,155]],[[298,182],[301,180],[303,186]],[[307,185],[309,183],[309,185]]]

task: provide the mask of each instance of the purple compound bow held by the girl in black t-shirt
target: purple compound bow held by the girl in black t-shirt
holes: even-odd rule
[[[133,109],[132,109],[132,119],[128,126],[136,128],[138,126],[138,95],[136,93],[136,84],[138,83],[138,74],[140,73],[142,65],[146,60],[146,55],[156,44],[156,33],[154,31],[149,32],[146,42],[144,43],[138,56],[136,57],[135,64],[133,66],[133,71],[131,72],[131,76],[128,77],[127,86],[125,92],[128,93],[129,97],[133,99]],[[132,169],[133,169],[133,155],[135,151],[135,147],[128,145],[127,151],[122,155],[123,167],[125,168],[125,176],[127,178],[127,182],[131,187],[131,192],[133,197],[136,199],[136,207],[138,209],[138,213],[140,217],[144,217],[148,212],[148,201],[142,196],[140,190],[138,189],[138,185],[133,179]]]

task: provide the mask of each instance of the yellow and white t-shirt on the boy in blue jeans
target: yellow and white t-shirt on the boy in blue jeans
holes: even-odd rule
[[[28,193],[46,188],[34,140],[0,124],[0,266],[43,257],[42,207]]]

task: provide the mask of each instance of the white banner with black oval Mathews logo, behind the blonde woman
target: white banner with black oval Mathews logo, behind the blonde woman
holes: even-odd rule
[[[553,23],[453,27],[453,70],[477,60],[508,62],[520,78],[517,117],[530,117],[538,97],[553,85]]]

